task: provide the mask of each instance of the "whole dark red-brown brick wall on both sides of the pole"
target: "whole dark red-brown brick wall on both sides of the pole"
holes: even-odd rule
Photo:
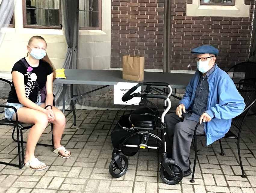
[[[211,44],[220,51],[219,66],[248,58],[254,1],[249,17],[186,16],[192,0],[173,0],[171,5],[171,69],[196,70],[194,47]],[[111,67],[122,67],[122,55],[137,48],[145,56],[145,68],[162,69],[164,0],[112,0]],[[188,68],[190,64],[192,67]]]

